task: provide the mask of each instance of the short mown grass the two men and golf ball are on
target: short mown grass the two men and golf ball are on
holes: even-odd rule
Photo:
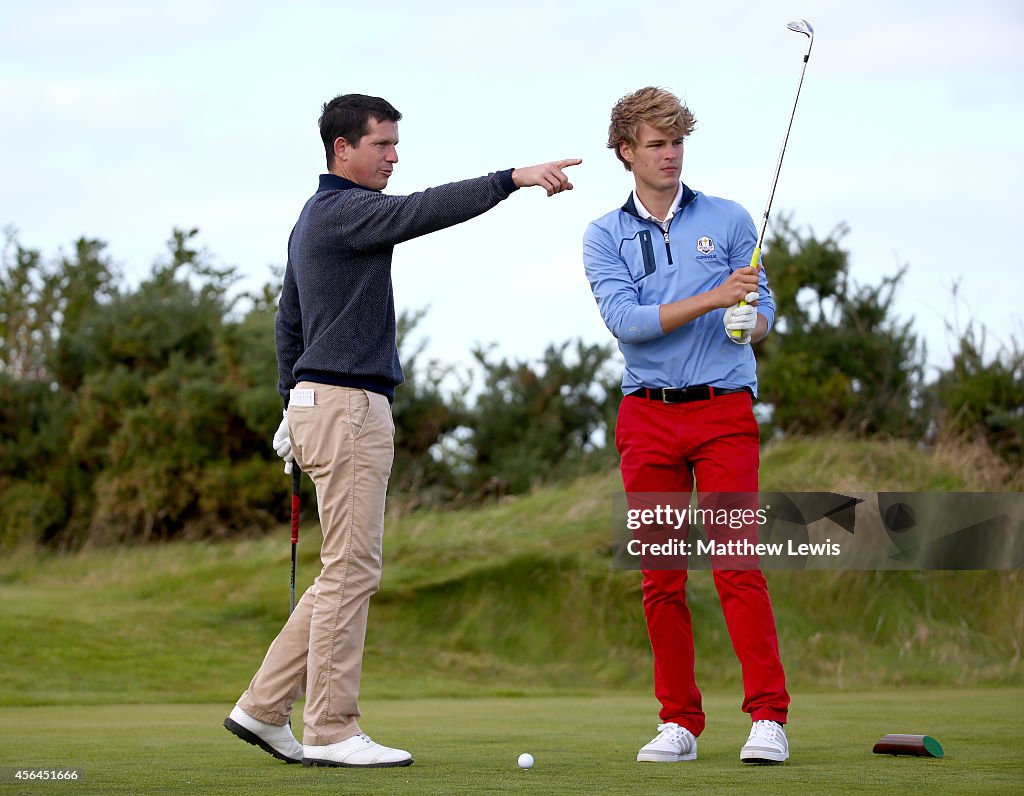
[[[709,696],[697,760],[671,764],[635,762],[655,731],[647,696],[379,700],[362,706],[364,728],[416,762],[377,770],[280,763],[220,726],[229,705],[9,708],[0,767],[80,765],[85,781],[0,793],[1019,793],[1024,782],[1024,689],[797,695],[793,757],[770,767],[738,760],[738,700]],[[890,731],[932,735],[946,756],[871,754]],[[525,751],[528,771],[515,762]]]

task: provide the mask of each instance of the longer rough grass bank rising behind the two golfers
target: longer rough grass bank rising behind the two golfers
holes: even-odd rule
[[[968,489],[954,460],[900,443],[768,446],[765,489]],[[973,477],[973,476],[972,476]],[[815,480],[816,478],[816,480]],[[371,609],[371,698],[646,693],[639,574],[608,563],[618,476],[389,519]],[[300,540],[300,589],[318,569]],[[22,551],[0,562],[0,704],[229,702],[288,606],[288,532],[263,539]],[[795,690],[1024,680],[1020,572],[769,573]],[[737,688],[710,573],[693,573],[697,675]]]

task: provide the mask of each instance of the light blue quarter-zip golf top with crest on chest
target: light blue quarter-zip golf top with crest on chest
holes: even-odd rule
[[[665,334],[660,305],[713,290],[751,264],[757,232],[735,202],[693,192],[682,182],[665,226],[632,194],[617,210],[592,221],[584,265],[605,326],[626,360],[623,392],[640,387],[749,387],[758,391],[750,345],[729,339],[713,309]],[[758,312],[775,320],[762,267]]]

